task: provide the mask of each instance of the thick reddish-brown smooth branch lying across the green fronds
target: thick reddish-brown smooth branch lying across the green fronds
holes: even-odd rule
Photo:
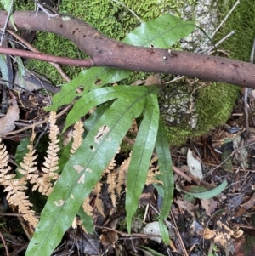
[[[94,66],[109,66],[132,71],[151,71],[198,77],[215,82],[255,88],[255,65],[205,54],[127,45],[106,37],[82,20],[61,14],[50,18],[39,12],[14,12],[15,25],[21,30],[48,31],[70,39],[91,57]],[[0,11],[3,27],[7,13]],[[8,28],[13,29],[11,23]]]

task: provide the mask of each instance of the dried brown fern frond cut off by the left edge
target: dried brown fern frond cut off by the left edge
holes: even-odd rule
[[[13,179],[16,174],[8,174],[11,167],[8,166],[8,151],[0,138],[0,185],[5,185],[6,180]]]

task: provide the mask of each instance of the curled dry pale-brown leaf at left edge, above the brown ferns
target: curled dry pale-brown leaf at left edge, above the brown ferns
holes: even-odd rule
[[[0,118],[0,136],[8,134],[15,128],[15,121],[20,118],[20,109],[17,104],[15,97],[12,98],[12,104],[5,115],[5,117]]]

